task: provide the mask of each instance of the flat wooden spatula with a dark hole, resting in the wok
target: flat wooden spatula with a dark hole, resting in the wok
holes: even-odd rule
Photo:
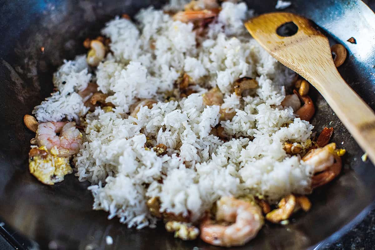
[[[286,23],[292,27],[289,36],[279,35],[279,27]],[[273,57],[317,88],[375,163],[374,111],[342,79],[333,63],[328,39],[314,23],[299,15],[279,12],[252,18],[245,26]]]

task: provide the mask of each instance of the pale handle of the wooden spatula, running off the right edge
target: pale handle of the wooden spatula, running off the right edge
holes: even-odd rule
[[[342,79],[336,68],[324,76],[312,77],[317,89],[351,135],[375,162],[375,114],[374,111]]]

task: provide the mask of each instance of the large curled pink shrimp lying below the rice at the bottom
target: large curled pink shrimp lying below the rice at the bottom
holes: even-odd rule
[[[201,239],[215,246],[242,246],[254,238],[262,228],[264,218],[257,205],[233,197],[217,201],[216,220],[234,222],[225,226],[205,219],[201,225]]]

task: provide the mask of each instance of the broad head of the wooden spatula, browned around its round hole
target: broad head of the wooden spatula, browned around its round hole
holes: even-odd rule
[[[277,30],[284,24],[294,24],[297,32],[281,36]],[[311,76],[318,73],[310,72],[314,70],[311,65],[336,70],[327,37],[309,19],[293,13],[275,12],[252,18],[245,27],[273,57],[310,82],[314,82]]]

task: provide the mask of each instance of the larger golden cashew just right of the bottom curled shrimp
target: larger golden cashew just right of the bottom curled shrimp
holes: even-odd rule
[[[278,204],[277,209],[272,210],[270,213],[266,214],[266,219],[273,223],[279,223],[282,220],[287,220],[294,211],[296,207],[296,196],[288,195],[282,198]]]

